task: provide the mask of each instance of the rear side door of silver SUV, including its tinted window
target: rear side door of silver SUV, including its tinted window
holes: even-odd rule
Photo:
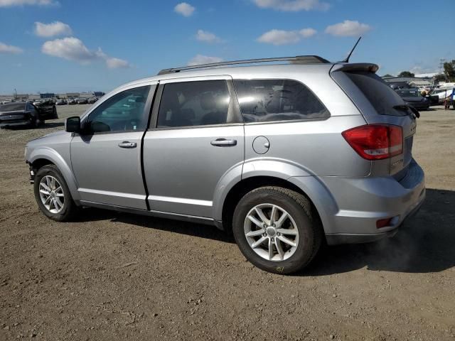
[[[150,210],[213,217],[222,179],[241,177],[244,131],[229,76],[161,81],[144,137]]]

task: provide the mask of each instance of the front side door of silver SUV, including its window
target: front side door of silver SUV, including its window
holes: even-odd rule
[[[146,210],[141,139],[156,85],[107,98],[82,119],[71,141],[71,164],[82,202]]]

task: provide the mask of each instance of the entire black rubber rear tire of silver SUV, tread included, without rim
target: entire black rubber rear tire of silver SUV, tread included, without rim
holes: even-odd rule
[[[294,254],[282,261],[270,261],[259,256],[245,237],[244,223],[248,212],[260,204],[282,207],[294,219],[299,242]],[[292,274],[304,269],[316,256],[323,239],[323,229],[311,202],[300,193],[280,187],[262,187],[247,193],[235,207],[232,232],[245,258],[259,269],[275,274]]]

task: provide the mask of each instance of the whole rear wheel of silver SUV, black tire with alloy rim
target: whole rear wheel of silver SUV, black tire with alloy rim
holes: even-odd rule
[[[237,204],[232,232],[240,251],[264,271],[291,274],[321,247],[322,229],[309,200],[293,190],[262,187]]]

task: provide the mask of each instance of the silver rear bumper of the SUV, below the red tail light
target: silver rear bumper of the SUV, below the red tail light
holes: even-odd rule
[[[324,226],[328,244],[374,242],[392,237],[425,199],[424,172],[412,160],[405,178],[324,178],[338,212]],[[378,228],[378,220],[391,219]]]

